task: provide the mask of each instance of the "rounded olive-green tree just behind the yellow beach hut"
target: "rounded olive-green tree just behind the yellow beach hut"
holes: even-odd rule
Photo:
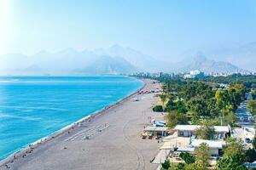
[[[178,113],[177,111],[170,111],[165,116],[167,127],[175,127],[177,124],[188,124],[188,119],[183,114]]]

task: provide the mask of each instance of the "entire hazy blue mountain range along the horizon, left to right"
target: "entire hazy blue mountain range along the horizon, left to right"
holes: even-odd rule
[[[172,60],[156,59],[132,48],[113,45],[77,51],[73,48],[34,55],[0,55],[0,75],[103,75],[130,74],[137,71],[186,72],[200,70],[206,73],[247,72],[230,62],[207,59],[204,54],[172,63]]]

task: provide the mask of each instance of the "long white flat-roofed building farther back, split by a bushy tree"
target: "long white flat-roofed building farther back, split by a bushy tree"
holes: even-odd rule
[[[201,125],[177,125],[174,130],[177,131],[178,137],[193,137],[195,131],[200,128]],[[228,126],[214,126],[216,132],[216,139],[224,139],[227,133],[230,133]]]

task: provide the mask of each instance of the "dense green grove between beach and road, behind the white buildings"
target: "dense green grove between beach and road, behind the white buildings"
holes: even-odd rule
[[[165,110],[183,114],[192,124],[201,124],[203,120],[216,122],[221,118],[217,124],[232,126],[235,111],[247,91],[244,83],[230,82],[229,88],[220,88],[219,84],[205,79],[160,77],[158,80],[164,82],[164,94],[160,99]]]

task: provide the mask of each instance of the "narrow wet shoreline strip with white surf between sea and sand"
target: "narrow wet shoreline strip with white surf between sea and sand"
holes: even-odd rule
[[[0,160],[0,167],[3,167],[9,163],[13,163],[16,159],[20,159],[20,157],[31,153],[32,150],[38,148],[40,145],[50,142],[52,139],[55,139],[56,137],[60,136],[63,133],[69,133],[69,131],[73,130],[74,128],[79,127],[80,124],[82,124],[84,122],[90,122],[90,121],[96,119],[96,117],[102,116],[104,114],[104,112],[106,112],[110,109],[113,109],[114,107],[118,107],[119,105],[124,103],[126,100],[131,99],[132,96],[136,95],[138,92],[140,92],[146,86],[146,82],[144,79],[136,78],[136,77],[131,77],[131,78],[135,78],[139,81],[142,81],[143,87],[138,88],[135,92],[126,95],[124,98],[119,99],[118,101],[114,102],[113,104],[105,106],[101,110],[95,111],[88,116],[84,116],[81,119],[79,119],[78,121],[72,122],[69,125],[67,125],[66,127],[62,127],[61,129],[59,129],[53,133],[50,133],[49,135],[47,135],[41,139],[38,139],[35,142],[26,144],[26,146],[22,146],[20,148],[20,150],[15,151],[14,153],[10,154],[9,156],[6,156],[5,158],[3,158],[3,160]]]

